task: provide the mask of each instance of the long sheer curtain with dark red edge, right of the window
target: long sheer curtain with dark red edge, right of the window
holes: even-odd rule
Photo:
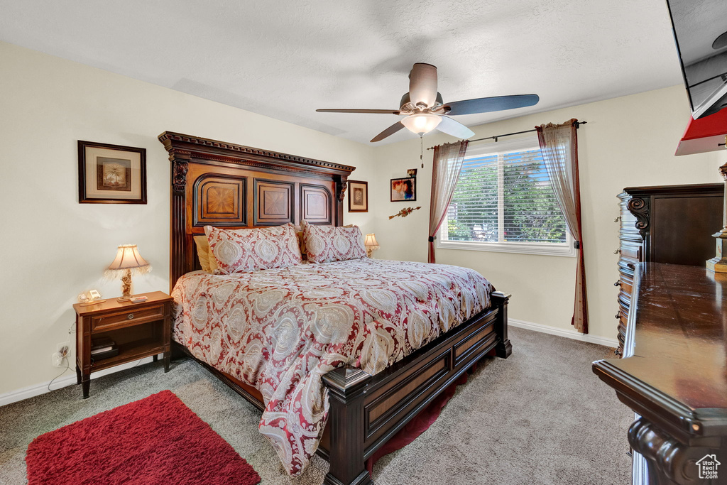
[[[542,124],[538,132],[540,151],[545,168],[553,184],[558,205],[566,217],[566,223],[577,247],[576,297],[571,325],[579,332],[588,333],[588,305],[586,300],[586,272],[583,257],[581,228],[581,189],[578,180],[577,119],[563,124]]]

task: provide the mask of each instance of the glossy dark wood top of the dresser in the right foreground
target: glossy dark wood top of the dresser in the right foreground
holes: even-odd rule
[[[697,435],[727,425],[727,274],[649,262],[634,276],[625,357],[594,372],[640,414]]]

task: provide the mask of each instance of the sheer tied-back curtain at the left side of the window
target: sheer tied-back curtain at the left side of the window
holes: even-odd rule
[[[432,200],[429,205],[429,262],[435,262],[434,239],[447,214],[454,187],[459,180],[459,171],[462,169],[462,162],[465,161],[467,145],[469,142],[462,140],[434,147]]]

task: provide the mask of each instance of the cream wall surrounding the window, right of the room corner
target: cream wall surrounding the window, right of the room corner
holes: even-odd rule
[[[590,333],[614,339],[618,310],[614,249],[619,246],[618,224],[614,223],[619,215],[616,194],[633,185],[720,182],[717,167],[727,156],[722,152],[674,156],[689,118],[686,92],[679,86],[484,124],[473,127],[473,139],[571,118],[588,121],[578,130],[578,143]],[[425,146],[447,141],[451,137],[430,135],[425,137]],[[423,207],[404,219],[377,217],[376,236],[382,247],[376,257],[426,260],[431,156],[431,151],[425,152],[425,168],[419,168],[417,202],[388,202],[388,179],[404,177],[406,169],[419,167],[419,140],[377,148],[381,170],[371,195],[378,201],[381,215],[393,215],[409,205]],[[571,329],[575,258],[438,249],[437,262],[478,270],[498,289],[511,292],[511,318]]]

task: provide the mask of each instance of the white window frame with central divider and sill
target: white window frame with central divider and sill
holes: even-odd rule
[[[497,147],[497,150],[494,148]],[[498,215],[502,215],[504,210],[504,194],[505,194],[505,180],[503,177],[504,173],[504,158],[501,156],[505,153],[512,153],[517,151],[527,151],[539,149],[537,137],[520,137],[515,140],[507,140],[505,142],[496,142],[483,145],[475,148],[473,151],[469,151],[465,155],[465,160],[497,154],[497,204],[498,204]],[[449,212],[449,207],[448,207]],[[498,239],[502,240],[504,233],[505,221],[502,217],[498,217]],[[447,231],[447,218],[445,216],[441,227],[439,228],[437,238],[435,239],[435,246],[437,249],[463,249],[466,251],[487,251],[487,252],[511,252],[515,254],[538,254],[547,256],[563,256],[563,257],[575,257],[578,254],[578,250],[573,244],[573,236],[571,231],[567,229],[568,223],[566,222],[566,242],[565,243],[542,243],[542,242],[485,242],[485,241],[450,241],[448,238],[449,234]]]

